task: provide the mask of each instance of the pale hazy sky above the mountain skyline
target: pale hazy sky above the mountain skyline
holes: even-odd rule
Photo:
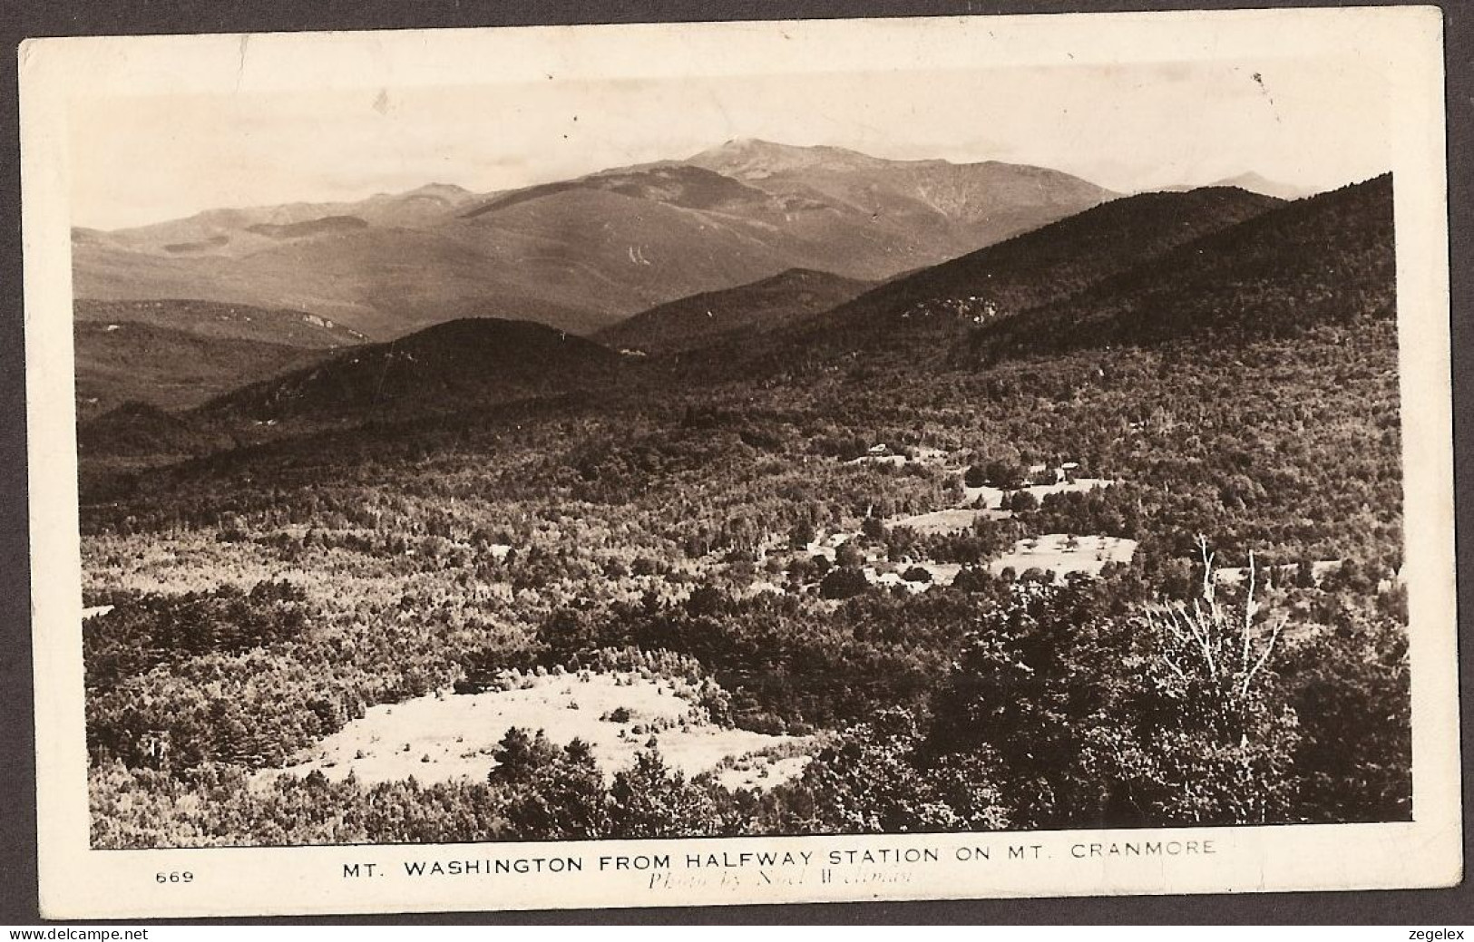
[[[1330,189],[1390,165],[1387,88],[1352,59],[100,97],[72,112],[74,223],[488,192],[733,137],[1039,164],[1132,192],[1244,171]]]

